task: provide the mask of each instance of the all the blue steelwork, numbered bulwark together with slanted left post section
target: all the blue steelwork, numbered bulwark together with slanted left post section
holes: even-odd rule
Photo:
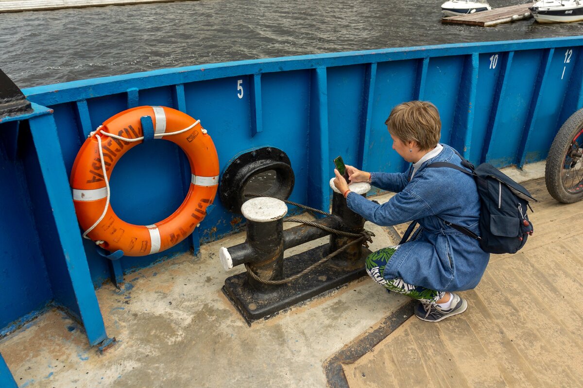
[[[391,108],[403,101],[436,104],[442,142],[474,163],[504,167],[542,160],[561,123],[583,107],[582,46],[583,37],[571,37],[395,48],[163,69],[26,89],[30,101],[53,110],[37,128],[52,128],[52,120],[56,125],[56,136],[40,131],[33,140],[56,142],[59,152],[35,151],[26,130],[17,147],[15,129],[8,128],[13,124],[0,124],[0,178],[7,182],[0,197],[11,204],[0,224],[0,290],[14,295],[12,301],[0,301],[0,327],[55,299],[94,325],[92,341],[104,337],[96,299],[83,284],[90,271],[94,285],[100,285],[110,269],[94,244],[81,242],[81,231],[71,227],[75,215],[67,202],[68,182],[51,168],[64,166],[70,174],[89,132],[120,111],[165,105],[201,119],[222,171],[246,150],[278,147],[296,173],[291,200],[326,209],[334,157],[342,155],[346,163],[368,171],[406,168],[391,150],[384,125]],[[12,155],[15,149],[23,153]],[[189,177],[185,157],[173,144],[142,144],[115,168],[112,206],[129,222],[155,223],[180,205]],[[62,213],[51,213],[47,203],[58,204]],[[122,269],[198,251],[201,242],[240,229],[240,216],[227,213],[218,196],[215,203],[191,238],[157,255],[122,258]],[[55,234],[57,241],[51,239]],[[71,263],[73,251],[88,267]],[[61,284],[61,278],[68,280]]]

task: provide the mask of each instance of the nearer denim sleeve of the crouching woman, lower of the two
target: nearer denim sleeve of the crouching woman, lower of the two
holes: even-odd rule
[[[357,193],[349,192],[346,202],[350,210],[381,226],[402,224],[434,214],[423,199],[409,190],[397,193],[383,204],[374,203]]]

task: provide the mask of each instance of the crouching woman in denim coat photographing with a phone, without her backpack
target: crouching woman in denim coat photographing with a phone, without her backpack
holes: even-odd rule
[[[417,318],[438,322],[466,311],[465,299],[452,291],[476,287],[490,258],[476,239],[446,224],[480,234],[476,184],[452,168],[426,168],[435,162],[462,167],[454,149],[438,143],[441,120],[435,105],[425,101],[399,104],[385,124],[392,148],[412,163],[408,172],[365,172],[350,165],[346,169],[351,182],[370,182],[396,195],[384,204],[371,202],[352,193],[337,170],[334,184],[348,207],[368,221],[382,226],[419,223],[408,242],[371,253],[366,269],[382,287],[419,300]]]

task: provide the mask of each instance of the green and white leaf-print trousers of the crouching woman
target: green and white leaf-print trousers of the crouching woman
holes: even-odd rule
[[[441,299],[445,292],[430,290],[429,288],[418,285],[407,284],[402,278],[385,279],[382,274],[385,271],[385,266],[391,260],[392,255],[399,248],[399,246],[388,246],[382,248],[377,252],[373,252],[366,258],[366,271],[368,276],[373,278],[382,287],[389,291],[398,292],[399,294],[407,295],[410,298],[417,299],[424,304],[435,303]]]

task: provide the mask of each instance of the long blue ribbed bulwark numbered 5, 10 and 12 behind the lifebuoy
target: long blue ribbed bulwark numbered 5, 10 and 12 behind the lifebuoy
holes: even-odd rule
[[[54,109],[68,172],[80,144],[101,122],[129,107],[166,105],[201,119],[222,169],[245,150],[283,149],[296,172],[291,199],[325,208],[331,160],[339,154],[366,170],[406,168],[391,150],[384,125],[402,101],[436,104],[442,142],[475,163],[504,167],[542,160],[561,122],[583,105],[581,45],[583,38],[574,37],[307,55],[104,77],[24,93]],[[136,147],[113,174],[112,206],[136,224],[160,221],[181,203],[188,174],[181,151],[169,142]],[[216,203],[189,241],[158,255],[123,258],[124,270],[196,250],[199,242],[240,228],[240,218],[226,213],[218,198]],[[99,284],[108,277],[107,264],[91,242],[84,246]]]

